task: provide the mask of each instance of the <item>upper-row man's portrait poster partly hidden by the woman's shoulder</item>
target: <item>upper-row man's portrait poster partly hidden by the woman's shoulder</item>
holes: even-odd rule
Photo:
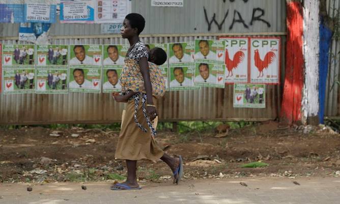
[[[122,68],[124,65],[124,59],[126,52],[129,49],[129,45],[104,45],[103,50],[103,65],[104,68]]]

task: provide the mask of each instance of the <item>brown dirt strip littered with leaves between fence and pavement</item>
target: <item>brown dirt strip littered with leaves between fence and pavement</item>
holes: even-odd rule
[[[0,182],[122,180],[126,175],[125,162],[114,157],[118,134],[79,127],[2,129]],[[162,131],[157,134],[157,141],[169,155],[182,155],[184,179],[245,176],[293,179],[340,174],[340,135],[326,127],[285,127],[265,122],[221,134],[217,130],[186,134]],[[241,168],[256,161],[269,166]],[[160,160],[138,162],[137,174],[140,182],[162,182],[172,175]]]

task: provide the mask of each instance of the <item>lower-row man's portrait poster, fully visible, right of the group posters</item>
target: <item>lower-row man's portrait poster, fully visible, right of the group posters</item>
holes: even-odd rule
[[[70,92],[100,93],[101,67],[71,67],[69,76]]]

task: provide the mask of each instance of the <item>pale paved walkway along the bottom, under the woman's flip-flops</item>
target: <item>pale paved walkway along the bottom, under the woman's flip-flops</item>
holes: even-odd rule
[[[87,190],[82,190],[81,185],[86,185]],[[178,186],[167,181],[148,183],[141,185],[141,190],[130,191],[112,191],[109,186],[108,183],[36,184],[28,192],[26,184],[0,184],[0,203],[340,203],[340,178],[336,177],[196,180],[182,181]]]

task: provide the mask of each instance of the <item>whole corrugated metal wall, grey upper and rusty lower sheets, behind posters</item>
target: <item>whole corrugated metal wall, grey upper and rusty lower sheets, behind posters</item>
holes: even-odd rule
[[[141,40],[145,43],[194,41],[196,38],[216,39],[219,35],[281,35],[281,82],[285,73],[286,1],[221,1],[185,0],[183,8],[151,7],[150,0],[132,0],[132,12],[142,14],[147,21]],[[262,9],[262,21],[250,25],[254,9]],[[213,23],[208,31],[205,17]],[[248,28],[233,17],[240,13]],[[255,16],[261,14],[257,11]],[[272,34],[275,33],[275,34]],[[155,35],[158,34],[158,35]],[[52,24],[52,44],[124,44],[117,35],[102,35],[100,24]],[[0,42],[17,44],[18,23],[0,23]],[[3,39],[3,40],[1,40]],[[278,116],[282,85],[266,86],[266,109],[233,108],[233,86],[224,89],[202,88],[192,91],[167,92],[157,103],[160,119],[177,120],[267,120]],[[109,123],[121,120],[124,104],[115,103],[109,94],[18,94],[0,95],[0,124],[20,123]]]

